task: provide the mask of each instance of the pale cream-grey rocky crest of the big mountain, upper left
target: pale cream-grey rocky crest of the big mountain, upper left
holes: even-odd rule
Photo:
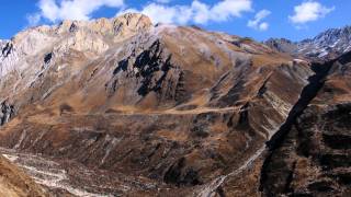
[[[65,20],[58,25],[43,25],[20,32],[10,42],[0,43],[0,76],[13,70],[22,72],[30,66],[34,56],[43,57],[55,54],[64,58],[71,51],[79,51],[86,58],[94,58],[110,47],[136,34],[152,27],[151,20],[139,13],[126,13],[112,19],[91,21]],[[21,65],[20,67],[16,65]]]

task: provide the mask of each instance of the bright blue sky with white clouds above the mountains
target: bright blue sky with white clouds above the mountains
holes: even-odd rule
[[[65,19],[112,18],[143,12],[155,22],[199,25],[258,40],[301,40],[351,24],[350,0],[3,0],[0,38]]]

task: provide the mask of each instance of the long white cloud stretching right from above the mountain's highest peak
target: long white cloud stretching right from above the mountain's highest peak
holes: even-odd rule
[[[189,5],[167,5],[152,2],[143,7],[141,10],[127,9],[118,14],[134,11],[148,15],[154,23],[206,24],[239,18],[242,12],[252,11],[251,5],[251,0],[223,0],[213,5],[199,0],[194,0]]]

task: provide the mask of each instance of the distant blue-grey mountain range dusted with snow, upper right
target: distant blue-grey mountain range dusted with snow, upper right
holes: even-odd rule
[[[312,39],[292,42],[285,38],[271,38],[265,45],[293,56],[312,59],[332,59],[351,50],[351,26],[327,30]]]

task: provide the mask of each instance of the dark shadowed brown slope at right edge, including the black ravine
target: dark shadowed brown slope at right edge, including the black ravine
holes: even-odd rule
[[[348,196],[350,190],[351,54],[316,67],[325,69],[308,107],[291,119],[261,171],[265,196]],[[320,70],[321,71],[321,70]]]

